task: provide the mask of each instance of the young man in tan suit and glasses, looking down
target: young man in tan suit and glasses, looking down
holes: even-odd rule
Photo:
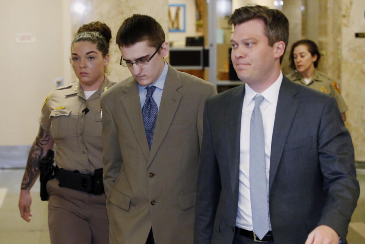
[[[133,15],[116,43],[132,76],[101,98],[111,243],[192,243],[203,109],[214,85],[164,61],[155,19]]]

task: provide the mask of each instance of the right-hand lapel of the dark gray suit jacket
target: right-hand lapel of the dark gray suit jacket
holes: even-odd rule
[[[284,76],[279,90],[271,142],[269,192],[300,102],[299,98],[295,97],[297,93],[296,85]]]

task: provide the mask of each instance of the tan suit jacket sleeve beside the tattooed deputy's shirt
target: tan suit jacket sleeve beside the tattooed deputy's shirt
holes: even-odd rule
[[[103,183],[105,195],[110,198],[111,191],[122,167],[122,154],[120,152],[118,131],[114,123],[114,118],[110,108],[104,99],[104,93],[101,95],[102,109],[102,142],[103,142]]]

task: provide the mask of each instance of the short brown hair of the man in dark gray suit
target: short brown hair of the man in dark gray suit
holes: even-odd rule
[[[230,19],[229,24],[236,26],[244,22],[261,19],[265,23],[265,36],[269,40],[269,46],[272,47],[274,43],[283,41],[285,49],[283,55],[280,57],[280,63],[284,58],[285,50],[288,46],[289,39],[289,21],[284,13],[277,9],[270,9],[265,6],[249,6],[235,9]]]

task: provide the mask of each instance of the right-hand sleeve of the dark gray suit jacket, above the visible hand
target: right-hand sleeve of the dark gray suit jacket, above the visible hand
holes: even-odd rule
[[[318,131],[318,155],[327,201],[318,225],[328,225],[345,238],[360,194],[354,148],[336,101],[328,97]]]

